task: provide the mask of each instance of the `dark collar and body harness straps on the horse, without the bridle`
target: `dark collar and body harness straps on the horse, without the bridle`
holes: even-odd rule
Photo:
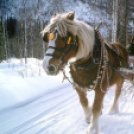
[[[93,48],[93,56],[92,57],[90,56],[90,58],[83,64],[78,64],[78,62],[75,62],[75,63],[73,63],[71,65],[73,65],[75,67],[75,69],[78,69],[78,70],[91,70],[91,69],[95,68],[96,66],[98,66],[98,68],[100,68],[98,70],[99,75],[96,76],[95,81],[97,83],[98,82],[97,80],[99,80],[101,78],[101,83],[103,82],[103,80],[102,80],[103,74],[100,73],[100,72],[102,72],[102,70],[104,70],[107,73],[107,75],[105,75],[104,77],[106,77],[106,79],[107,79],[108,87],[109,87],[109,81],[112,79],[112,77],[114,76],[115,72],[118,73],[120,76],[124,77],[125,79],[130,80],[130,78],[128,78],[123,72],[121,72],[120,70],[118,70],[116,68],[116,66],[121,67],[122,62],[124,62],[126,64],[126,66],[128,67],[128,63],[127,63],[127,61],[125,59],[123,59],[120,56],[120,52],[114,47],[113,44],[109,44],[109,45],[110,45],[110,49],[113,50],[113,52],[114,52],[114,56],[115,56],[115,60],[117,61],[116,62],[117,65],[114,66],[109,60],[107,61],[107,63],[106,63],[107,66],[110,66],[113,69],[112,74],[110,76],[108,76],[108,68],[107,68],[107,70],[105,70],[104,67],[102,67],[104,62],[103,61],[100,62],[101,55],[102,55],[102,47],[101,47],[101,45],[102,45],[102,41],[100,39],[98,31],[95,30],[95,41],[94,41],[94,48]],[[104,44],[104,45],[106,46],[106,44]],[[133,82],[132,80],[130,80],[130,81]],[[81,86],[79,86],[79,87],[81,87]],[[89,83],[89,87],[93,88],[93,86],[90,85],[90,83]],[[100,84],[100,87],[102,87],[101,84]],[[94,86],[94,88],[95,88],[95,86]],[[101,88],[101,90],[103,91],[102,88]],[[106,91],[103,91],[103,92],[105,93]]]

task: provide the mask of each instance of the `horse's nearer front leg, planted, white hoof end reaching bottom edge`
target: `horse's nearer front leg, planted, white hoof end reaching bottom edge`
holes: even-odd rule
[[[99,116],[102,108],[104,95],[105,94],[100,89],[95,90],[95,99],[92,106],[91,121],[88,130],[86,131],[86,134],[100,134]]]

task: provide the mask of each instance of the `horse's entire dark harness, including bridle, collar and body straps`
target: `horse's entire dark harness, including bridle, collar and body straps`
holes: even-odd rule
[[[50,34],[50,40],[53,39],[55,37],[54,34],[57,34],[57,33],[58,33],[57,30],[55,30],[53,33],[51,33]],[[55,55],[55,54],[51,54],[51,53],[46,53],[45,56],[51,56],[51,57],[57,58],[57,59],[59,59],[61,61],[61,63],[65,64],[65,56],[67,56],[67,54],[72,49],[74,49],[75,52],[77,52],[77,49],[78,49],[77,36],[73,36],[70,32],[68,32],[67,36],[62,38],[62,39],[63,39],[63,41],[65,43],[65,46],[63,48],[57,48],[57,47],[53,47],[53,46],[49,46],[48,47],[49,49],[53,49],[55,51],[60,52],[61,56],[58,56],[58,55]],[[103,44],[103,46],[102,46],[102,44]],[[69,48],[68,48],[68,45],[70,45]],[[104,44],[103,39],[99,35],[99,32],[97,30],[95,30],[95,40],[94,40],[93,56],[92,57],[90,56],[90,58],[85,63],[78,64],[79,61],[76,61],[75,63],[71,63],[70,65],[73,65],[75,67],[75,69],[78,69],[78,70],[91,70],[91,69],[95,68],[96,66],[98,66],[98,73],[97,73],[97,76],[96,76],[96,83],[101,78],[101,84],[102,84],[104,77],[106,77],[107,78],[107,82],[108,82],[108,86],[109,86],[109,79],[111,79],[113,77],[115,72],[120,74],[125,79],[129,79],[125,74],[123,74],[121,71],[116,69],[116,67],[112,63],[110,63],[110,61],[107,61],[107,63],[105,62],[106,61],[105,60],[105,56],[102,57],[102,54],[103,55],[105,54],[102,51],[102,48],[104,48],[104,47],[106,49],[106,44]],[[121,66],[120,58],[122,58],[122,57],[119,55],[119,52],[117,52],[117,50],[114,48],[113,44],[110,44],[110,48],[115,52],[115,55],[116,55],[115,59],[117,60],[117,63],[119,63],[120,66]],[[104,58],[104,60],[102,60],[103,58]],[[124,59],[122,61],[124,61],[126,63],[126,65],[127,65],[127,62]],[[102,67],[103,64],[106,65],[105,69],[104,69],[104,67]],[[113,69],[113,73],[111,74],[110,77],[108,77],[107,65],[109,65]],[[105,71],[107,71],[106,72],[107,75],[104,75],[105,73],[102,73],[101,76],[100,76],[100,72],[102,71],[101,70],[102,68]],[[62,71],[63,71],[63,74],[64,74],[63,80],[64,79],[68,79],[68,81],[70,82],[69,78],[65,75],[64,69]],[[100,88],[102,90],[102,85],[100,85]],[[103,91],[103,92],[105,92],[105,91]]]

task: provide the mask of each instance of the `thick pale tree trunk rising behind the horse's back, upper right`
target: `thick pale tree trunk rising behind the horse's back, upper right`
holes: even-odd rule
[[[112,42],[117,41],[118,30],[118,4],[119,0],[113,0],[113,30],[112,30]]]

